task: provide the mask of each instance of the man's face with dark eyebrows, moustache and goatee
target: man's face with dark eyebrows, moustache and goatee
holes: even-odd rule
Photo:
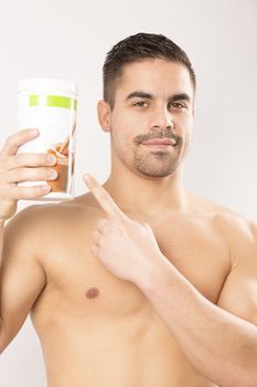
[[[193,94],[183,64],[156,59],[126,65],[110,112],[113,163],[141,176],[171,175],[191,143]]]

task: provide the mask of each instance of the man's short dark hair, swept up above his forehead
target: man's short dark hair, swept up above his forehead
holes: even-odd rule
[[[195,90],[195,74],[186,53],[162,34],[141,32],[118,42],[106,55],[103,67],[104,100],[111,108],[115,105],[117,81],[122,75],[124,66],[149,59],[164,59],[184,64]]]

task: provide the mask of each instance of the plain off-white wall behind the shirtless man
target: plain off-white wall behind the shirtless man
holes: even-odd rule
[[[84,171],[104,181],[110,163],[108,135],[96,115],[101,65],[115,43],[137,32],[168,35],[186,51],[196,72],[188,189],[256,220],[256,0],[0,0],[0,144],[17,130],[19,80],[73,80],[79,87],[76,195],[86,191]],[[45,386],[29,318],[0,357],[0,386],[18,385]]]

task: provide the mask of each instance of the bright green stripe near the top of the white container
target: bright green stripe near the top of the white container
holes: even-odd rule
[[[53,106],[77,109],[77,100],[61,95],[30,95],[30,106]]]

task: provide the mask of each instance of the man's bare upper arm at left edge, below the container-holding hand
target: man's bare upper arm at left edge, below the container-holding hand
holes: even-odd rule
[[[0,353],[23,325],[45,285],[38,259],[39,241],[34,207],[19,212],[7,224],[0,270]],[[33,221],[34,219],[34,221]]]

